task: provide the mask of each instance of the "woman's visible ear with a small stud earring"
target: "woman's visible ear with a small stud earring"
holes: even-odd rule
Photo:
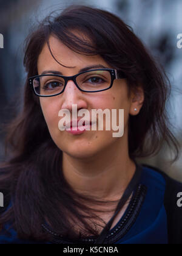
[[[144,102],[143,87],[135,87],[130,96],[130,115],[138,115]]]

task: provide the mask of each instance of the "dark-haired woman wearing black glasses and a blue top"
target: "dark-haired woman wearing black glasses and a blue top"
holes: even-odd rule
[[[161,141],[178,157],[164,108],[170,84],[130,27],[72,5],[27,38],[24,65],[24,108],[10,124],[12,157],[1,166],[0,243],[181,243],[181,183],[136,163]],[[78,112],[76,126],[72,118],[61,130],[61,111],[73,117],[75,105],[124,109],[123,136],[99,130],[98,117],[96,130],[79,127]]]

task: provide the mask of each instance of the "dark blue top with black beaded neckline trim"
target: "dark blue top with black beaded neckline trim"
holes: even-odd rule
[[[168,244],[167,215],[164,208],[165,190],[166,181],[163,175],[152,168],[143,166],[140,184],[136,188],[126,212],[116,226],[110,230],[107,237],[109,243]],[[9,224],[5,225],[0,232],[0,244],[38,243],[20,240],[14,229],[10,229],[10,233],[7,234],[8,227]],[[62,241],[67,243],[66,240]],[[43,242],[43,244],[50,243]]]

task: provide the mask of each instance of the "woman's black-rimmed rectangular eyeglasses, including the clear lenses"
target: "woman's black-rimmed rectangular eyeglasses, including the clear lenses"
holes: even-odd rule
[[[120,78],[125,78],[124,73]],[[116,69],[92,69],[75,76],[61,76],[58,74],[44,74],[29,78],[29,84],[36,96],[52,97],[64,92],[67,82],[72,80],[76,87],[86,93],[109,90],[113,80],[118,79]]]

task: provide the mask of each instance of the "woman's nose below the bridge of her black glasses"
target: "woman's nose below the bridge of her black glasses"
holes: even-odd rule
[[[72,105],[77,104],[77,109],[88,107],[86,97],[83,91],[80,91],[72,80],[67,82],[64,93],[62,94],[62,106],[63,109],[68,109],[72,112]]]

